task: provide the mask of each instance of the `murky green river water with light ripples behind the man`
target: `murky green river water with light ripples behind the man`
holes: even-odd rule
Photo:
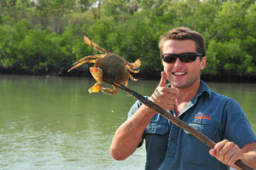
[[[113,96],[89,94],[94,83],[90,77],[0,75],[0,169],[143,169],[144,146],[125,161],[109,154],[113,134],[136,99],[122,90]],[[159,82],[129,83],[150,95]],[[256,133],[256,84],[208,85],[235,98]]]

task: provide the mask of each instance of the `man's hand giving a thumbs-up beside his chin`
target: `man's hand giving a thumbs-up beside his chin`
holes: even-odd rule
[[[151,95],[150,100],[153,101],[156,105],[159,105],[167,111],[174,109],[176,104],[176,89],[175,88],[166,88],[167,76],[166,72],[161,72],[161,80],[157,88],[154,90],[154,94]]]

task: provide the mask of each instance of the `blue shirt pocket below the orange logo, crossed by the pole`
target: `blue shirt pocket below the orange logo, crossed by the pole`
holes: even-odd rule
[[[207,123],[189,123],[190,127],[206,135],[214,142],[219,141],[218,128]],[[209,154],[210,148],[203,144],[199,139],[195,138],[191,133],[183,130],[183,161],[184,163],[193,164],[195,166],[209,166],[216,159]],[[191,156],[193,155],[193,156]]]

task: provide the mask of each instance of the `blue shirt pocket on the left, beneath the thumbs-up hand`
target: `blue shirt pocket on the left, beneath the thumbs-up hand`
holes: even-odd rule
[[[148,123],[145,133],[165,134],[168,132],[170,127],[169,124],[169,121],[165,117],[161,116],[160,114],[155,114]]]

